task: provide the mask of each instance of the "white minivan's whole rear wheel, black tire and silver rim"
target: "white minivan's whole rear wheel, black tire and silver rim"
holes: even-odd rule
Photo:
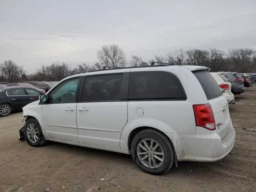
[[[174,148],[168,138],[154,129],[142,130],[132,140],[134,162],[144,172],[164,174],[174,164]]]

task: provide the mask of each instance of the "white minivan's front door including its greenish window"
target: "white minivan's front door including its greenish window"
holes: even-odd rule
[[[48,95],[48,102],[43,106],[43,120],[45,135],[51,139],[79,143],[76,127],[78,80],[66,80]]]

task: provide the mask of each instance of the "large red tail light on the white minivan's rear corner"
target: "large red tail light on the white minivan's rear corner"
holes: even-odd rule
[[[193,105],[196,126],[215,130],[215,120],[210,104]]]

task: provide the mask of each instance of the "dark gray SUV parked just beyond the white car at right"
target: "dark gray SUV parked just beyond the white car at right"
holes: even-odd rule
[[[224,72],[223,75],[230,80],[231,91],[234,95],[245,92],[244,79],[237,72]]]

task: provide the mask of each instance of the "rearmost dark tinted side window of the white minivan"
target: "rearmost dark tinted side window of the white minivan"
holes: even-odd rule
[[[186,99],[178,78],[168,72],[131,72],[128,99]]]

